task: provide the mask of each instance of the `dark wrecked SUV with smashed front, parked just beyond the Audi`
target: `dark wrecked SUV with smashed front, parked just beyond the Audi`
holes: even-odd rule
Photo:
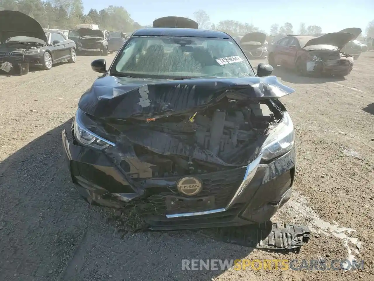
[[[76,37],[75,34],[77,34],[79,36],[79,39],[76,39],[79,52],[95,52],[100,55],[108,55],[108,36],[105,33],[108,33],[108,31],[82,27],[70,32],[69,35]]]

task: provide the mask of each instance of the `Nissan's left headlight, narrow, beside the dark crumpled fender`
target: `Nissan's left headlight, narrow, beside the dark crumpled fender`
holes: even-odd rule
[[[74,118],[74,137],[77,142],[96,149],[104,149],[116,145],[89,130],[94,127],[96,127],[96,124],[86,117],[83,111],[78,109]]]

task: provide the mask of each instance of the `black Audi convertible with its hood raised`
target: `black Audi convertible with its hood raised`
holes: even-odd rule
[[[24,13],[0,11],[0,72],[23,75],[30,66],[49,70],[62,61],[75,63],[74,41]]]

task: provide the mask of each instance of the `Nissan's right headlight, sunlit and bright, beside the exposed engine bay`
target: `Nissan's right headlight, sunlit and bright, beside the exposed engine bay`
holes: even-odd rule
[[[291,150],[295,142],[294,124],[288,112],[283,112],[283,120],[270,130],[263,146],[264,160],[272,160]]]

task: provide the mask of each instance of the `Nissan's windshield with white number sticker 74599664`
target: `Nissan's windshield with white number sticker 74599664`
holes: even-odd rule
[[[117,73],[144,78],[254,76],[232,39],[133,37],[113,64]]]

